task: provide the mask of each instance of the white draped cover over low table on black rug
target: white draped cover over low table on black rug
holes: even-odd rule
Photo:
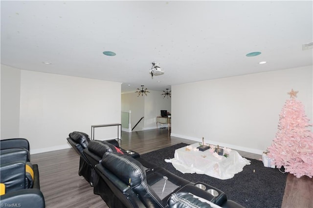
[[[200,146],[199,143],[191,145]],[[209,150],[186,151],[186,146],[175,150],[174,158],[165,160],[182,173],[205,174],[222,180],[234,177],[236,173],[243,171],[244,166],[250,165],[250,161],[243,158],[237,151],[231,150],[229,156],[216,158]]]

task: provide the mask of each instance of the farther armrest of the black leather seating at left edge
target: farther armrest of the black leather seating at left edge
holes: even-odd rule
[[[29,162],[29,151],[21,148],[0,150],[0,164],[12,163],[16,161]]]

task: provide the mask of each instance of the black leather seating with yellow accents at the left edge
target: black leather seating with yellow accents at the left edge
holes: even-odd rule
[[[45,208],[37,164],[30,163],[26,139],[0,140],[1,207]]]

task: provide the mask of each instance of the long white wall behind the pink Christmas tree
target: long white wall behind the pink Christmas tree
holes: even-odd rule
[[[261,154],[291,88],[312,123],[312,66],[174,85],[171,135]]]

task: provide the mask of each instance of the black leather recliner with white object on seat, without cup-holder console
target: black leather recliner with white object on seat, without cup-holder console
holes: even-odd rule
[[[190,183],[174,174],[158,174],[134,158],[114,152],[105,153],[96,170],[125,207],[165,207],[169,194]]]

